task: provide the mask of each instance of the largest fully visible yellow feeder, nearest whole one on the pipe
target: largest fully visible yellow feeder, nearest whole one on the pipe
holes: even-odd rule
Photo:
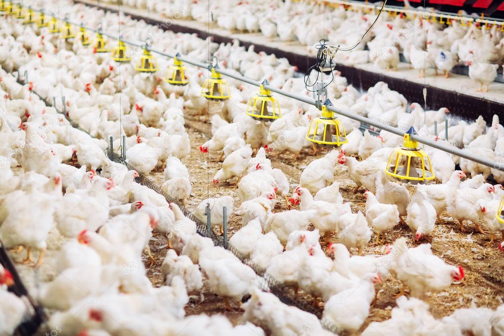
[[[392,152],[385,170],[388,175],[411,184],[435,178],[429,156],[418,147],[418,142],[410,139],[414,134],[416,134],[415,128],[410,127],[404,135],[403,146],[397,147]]]

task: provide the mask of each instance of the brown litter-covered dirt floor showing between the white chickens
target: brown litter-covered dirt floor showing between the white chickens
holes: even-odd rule
[[[214,186],[211,182],[213,175],[221,168],[216,154],[202,154],[199,146],[206,142],[211,133],[208,123],[196,120],[188,116],[185,124],[191,138],[191,155],[183,159],[183,163],[189,168],[192,178],[193,191],[191,198],[187,200],[187,208],[193,210],[207,197],[222,195],[232,195],[235,199],[234,211],[229,220],[229,237],[241,228],[241,217],[237,211],[240,200],[237,188],[234,186],[234,180],[228,183],[219,183]],[[297,186],[299,176],[314,158],[322,157],[327,151],[322,151],[313,157],[308,152],[303,152],[298,160],[293,161],[292,155],[285,154],[278,157],[270,156],[272,166],[280,168],[291,184],[291,190]],[[275,153],[272,153],[275,155]],[[338,170],[338,169],[337,169]],[[354,205],[352,211],[363,211],[365,208],[365,199],[363,190],[357,193],[353,192],[355,183],[351,181],[344,171],[337,173],[335,179],[341,181],[340,192],[345,201],[351,201]],[[162,172],[153,172],[151,177],[159,185],[164,182]],[[414,191],[414,186],[409,189]],[[285,211],[289,208],[283,199],[280,199],[274,212]],[[471,224],[469,224],[471,225]],[[474,230],[474,233],[473,233]],[[405,236],[410,238],[409,246],[415,246],[418,243],[412,239],[411,230],[407,226],[398,224],[392,232],[386,236],[385,243],[393,243],[397,238]],[[154,238],[151,242],[153,254],[158,262],[148,271],[153,285],[162,284],[160,267],[166,247],[155,242],[155,239],[164,239],[164,237]],[[460,284],[454,284],[443,292],[429,294],[425,301],[430,305],[431,313],[439,318],[451,314],[457,308],[471,307],[471,305],[496,308],[502,304],[504,298],[504,276],[500,272],[504,266],[501,252],[497,249],[500,237],[491,246],[488,245],[489,235],[483,235],[476,231],[474,226],[468,226],[466,223],[466,232],[461,233],[458,222],[449,216],[448,213],[442,215],[442,222],[437,223],[433,238],[431,239],[433,252],[443,257],[449,263],[462,265],[465,269],[465,278]],[[374,235],[371,241],[374,240]],[[337,234],[333,233],[331,242],[337,242]],[[423,241],[422,243],[425,243]],[[157,247],[156,247],[157,246]],[[161,246],[162,248],[159,248]],[[354,251],[355,252],[355,251]],[[368,244],[364,249],[364,254],[383,254],[383,245],[374,246]],[[146,263],[148,259],[145,259]],[[400,291],[401,284],[392,278],[384,281],[384,285],[379,292],[376,304],[371,308],[369,317],[366,319],[361,330],[363,330],[372,321],[382,321],[390,317],[391,309],[395,306],[394,296]],[[408,292],[406,292],[408,293]],[[187,314],[215,314],[224,313],[233,323],[238,323],[241,313],[239,310],[228,312],[224,311],[224,303],[220,297],[212,294],[207,286],[203,289],[204,301],[200,302],[200,294],[191,298],[190,304],[186,307]],[[358,333],[355,333],[358,334]]]

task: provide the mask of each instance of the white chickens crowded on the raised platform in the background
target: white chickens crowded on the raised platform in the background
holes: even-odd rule
[[[105,2],[116,4],[117,0]],[[205,24],[210,20],[210,24],[230,32],[261,33],[270,41],[298,41],[307,46],[306,52],[312,56],[321,38],[332,45],[353,45],[376,18],[375,11],[364,11],[363,7],[342,4],[334,7],[311,1],[125,0],[123,4],[148,9],[165,18]],[[439,71],[447,78],[454,66],[466,65],[471,80],[479,84],[478,91],[488,91],[504,62],[501,25],[471,25],[449,19],[433,21],[422,10],[418,8],[417,15],[409,16],[384,13],[363,43],[350,52],[337,53],[335,61],[348,65],[373,63],[376,68],[389,71],[397,70],[401,53],[420,77],[433,69],[433,74]],[[208,11],[213,13],[212,18]],[[428,9],[424,11],[430,13]],[[247,70],[245,63],[232,64],[235,70]],[[253,73],[264,77],[259,70]]]

